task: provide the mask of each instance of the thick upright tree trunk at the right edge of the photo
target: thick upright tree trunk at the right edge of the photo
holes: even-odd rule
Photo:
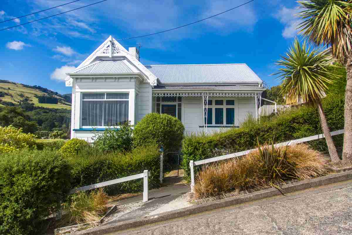
[[[352,162],[352,52],[346,63],[345,134],[342,160]]]

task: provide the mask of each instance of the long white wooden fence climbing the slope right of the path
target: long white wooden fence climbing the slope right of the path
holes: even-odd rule
[[[330,133],[331,133],[332,136],[334,136],[334,135],[343,134],[344,131],[345,130],[342,129],[342,130],[333,131],[333,132],[330,132]],[[287,141],[287,142],[274,144],[274,146],[275,147],[288,146],[288,145],[303,143],[303,142],[312,141],[312,140],[319,140],[321,138],[325,138],[324,134],[309,136],[309,137],[301,138],[301,139],[298,139],[298,140],[290,140],[290,141]],[[195,162],[194,161],[190,161],[189,162],[189,167],[190,167],[190,170],[191,170],[191,191],[193,192],[193,190],[194,190],[194,167],[195,166],[200,166],[200,165],[203,165],[203,164],[206,164],[206,163],[210,163],[210,162],[216,162],[216,161],[221,161],[221,160],[225,160],[225,159],[230,159],[230,158],[233,158],[233,157],[239,157],[239,156],[247,155],[253,150],[257,150],[257,148],[256,149],[250,149],[250,150],[241,151],[241,152],[238,152],[238,153],[227,154],[227,155],[223,155],[223,156],[219,156],[219,157],[213,157],[213,158],[208,158],[208,159],[204,159],[204,160],[199,160],[199,161],[195,161]]]

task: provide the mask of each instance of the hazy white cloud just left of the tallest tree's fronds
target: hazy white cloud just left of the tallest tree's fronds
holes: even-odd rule
[[[284,25],[282,36],[284,38],[295,37],[299,30],[297,30],[298,24],[302,21],[295,16],[299,12],[298,8],[287,8],[283,6],[275,17]]]

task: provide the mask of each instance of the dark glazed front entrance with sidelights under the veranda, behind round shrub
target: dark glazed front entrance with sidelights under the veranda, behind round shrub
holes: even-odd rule
[[[166,96],[156,97],[156,112],[165,113],[181,120],[182,118],[182,97]]]

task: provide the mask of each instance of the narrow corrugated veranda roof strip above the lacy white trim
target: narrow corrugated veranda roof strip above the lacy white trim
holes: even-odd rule
[[[247,89],[263,89],[263,87],[258,86],[242,86],[242,85],[175,85],[175,86],[154,86],[153,89],[230,89],[230,90],[247,90]]]

